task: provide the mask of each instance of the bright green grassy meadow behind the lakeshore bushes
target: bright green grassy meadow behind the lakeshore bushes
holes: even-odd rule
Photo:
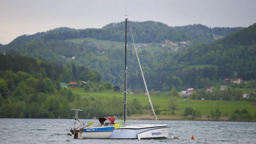
[[[82,96],[89,96],[92,95],[96,98],[103,98],[103,97],[124,97],[122,92],[84,92],[82,88],[71,88],[73,93],[80,94]],[[248,90],[251,91],[251,90]],[[142,106],[148,106],[148,97],[147,95],[143,94],[127,94],[127,101],[132,101],[133,99],[137,99],[141,102]],[[160,108],[168,108],[169,105],[169,97],[162,97],[162,96],[150,96],[153,105],[158,105]],[[192,107],[198,109],[202,115],[210,115],[211,110],[215,111],[216,108],[219,108],[220,112],[224,114],[231,115],[232,112],[238,109],[246,109],[252,115],[254,115],[256,111],[256,107],[252,107],[252,102],[248,101],[218,101],[218,100],[188,100],[182,98],[175,98],[176,100],[180,100],[178,102],[178,110],[174,110],[174,114],[183,114],[184,109],[186,107]],[[170,114],[171,110],[169,111],[162,111],[161,114]]]

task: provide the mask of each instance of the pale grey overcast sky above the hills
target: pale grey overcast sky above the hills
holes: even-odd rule
[[[154,20],[169,26],[248,27],[256,22],[256,0],[0,0],[0,43],[53,28],[101,28]]]

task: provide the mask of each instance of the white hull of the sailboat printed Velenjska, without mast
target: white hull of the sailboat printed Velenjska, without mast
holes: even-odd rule
[[[162,139],[168,138],[171,126],[166,124],[138,124],[115,129],[109,139]]]

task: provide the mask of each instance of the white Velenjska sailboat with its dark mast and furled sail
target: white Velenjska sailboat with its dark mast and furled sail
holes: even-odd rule
[[[140,71],[142,74],[142,78],[144,81],[144,85],[148,94],[148,100],[150,103],[150,106],[152,108],[153,114],[156,117],[156,121],[157,124],[136,124],[136,125],[128,125],[126,123],[126,75],[127,75],[127,67],[126,67],[126,41],[127,41],[127,20],[128,18],[125,19],[125,52],[124,52],[124,124],[123,127],[119,127],[117,129],[115,129],[109,139],[160,139],[160,138],[168,138],[169,136],[169,130],[171,128],[170,125],[167,124],[159,124],[159,123],[163,123],[163,121],[158,121],[157,120],[157,116],[155,114],[152,102],[150,100],[150,96],[148,93],[148,88],[147,88],[147,84],[145,82],[145,78],[143,75],[143,71],[141,69],[140,66]],[[130,25],[130,24],[129,24]],[[131,27],[130,27],[131,30]],[[132,30],[131,30],[131,34],[132,34]],[[132,36],[133,39],[133,36]],[[135,47],[135,43],[134,43],[134,39],[133,39],[133,44],[134,44],[134,48],[135,48],[135,52],[137,55],[137,59],[139,61],[139,65],[140,65],[140,60],[138,57],[138,53]]]

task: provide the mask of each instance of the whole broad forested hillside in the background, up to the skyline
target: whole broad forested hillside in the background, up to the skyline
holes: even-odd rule
[[[239,42],[236,37],[240,34],[251,36],[254,33],[252,25],[233,34],[241,28],[208,28],[203,25],[188,25],[183,27],[168,27],[162,23],[132,22],[134,37],[137,35],[136,44],[147,44],[147,48],[138,48],[140,62],[147,80],[148,89],[155,91],[170,91],[173,87],[179,91],[193,87],[202,89],[214,85],[212,82],[225,78],[234,78],[237,71],[238,77],[250,81],[255,79],[255,48],[254,45],[229,45],[226,42]],[[7,53],[19,53],[29,57],[55,60],[62,65],[69,63],[85,65],[103,76],[104,81],[121,84],[120,71],[124,65],[123,23],[112,23],[101,29],[81,29],[69,31],[56,29],[55,32],[44,33],[23,45],[22,39],[17,39],[13,44],[4,45],[0,50]],[[169,32],[171,31],[171,32]],[[214,40],[213,34],[230,36],[207,43],[205,40]],[[236,35],[236,36],[232,36]],[[24,36],[25,37],[25,36]],[[33,36],[29,36],[32,38]],[[178,50],[173,50],[165,39],[178,43]],[[253,39],[253,37],[251,37]],[[20,40],[21,42],[19,42]],[[83,41],[82,41],[83,40]],[[153,41],[154,40],[154,41]],[[180,41],[191,40],[192,43],[181,46]],[[225,41],[225,44],[219,44]],[[212,41],[211,41],[212,42]],[[252,40],[253,42],[253,40]],[[138,61],[132,48],[132,39],[128,36],[127,66],[132,90],[142,89],[144,85],[140,75]],[[92,46],[92,44],[95,44]],[[99,45],[99,46],[98,46]],[[173,46],[173,48],[176,48]],[[70,58],[75,57],[75,60]],[[62,58],[65,57],[65,58]],[[193,68],[193,67],[196,68]],[[207,66],[207,67],[206,67]],[[208,79],[209,80],[208,80]],[[210,81],[211,83],[206,83]]]

